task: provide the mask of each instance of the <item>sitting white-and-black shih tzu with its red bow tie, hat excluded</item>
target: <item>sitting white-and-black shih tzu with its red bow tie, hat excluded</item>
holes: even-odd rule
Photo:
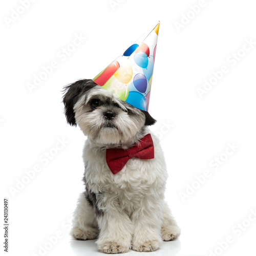
[[[65,88],[67,121],[88,137],[84,145],[86,190],[78,199],[71,234],[96,239],[105,253],[155,251],[180,234],[164,202],[167,170],[151,115],[91,79]]]

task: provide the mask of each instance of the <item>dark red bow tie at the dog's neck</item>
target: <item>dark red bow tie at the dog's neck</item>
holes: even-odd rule
[[[122,148],[108,148],[106,150],[106,163],[113,174],[117,174],[130,158],[154,158],[154,144],[150,134],[143,137],[136,145],[123,150]]]

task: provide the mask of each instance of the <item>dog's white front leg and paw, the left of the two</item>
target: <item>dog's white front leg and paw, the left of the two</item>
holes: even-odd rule
[[[113,206],[113,205],[112,205]],[[105,253],[123,253],[131,248],[133,224],[119,209],[110,208],[98,216],[100,229],[96,242],[98,249]]]

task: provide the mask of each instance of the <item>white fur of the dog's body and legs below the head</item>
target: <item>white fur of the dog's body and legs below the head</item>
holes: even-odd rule
[[[148,133],[146,129],[144,135]],[[96,238],[96,221],[100,230],[96,243],[105,253],[127,252],[131,247],[137,251],[154,251],[162,240],[179,236],[180,229],[164,202],[165,160],[158,139],[154,135],[152,138],[155,158],[132,158],[116,175],[106,164],[105,149],[91,139],[86,141],[85,178],[93,193],[100,195],[98,208],[103,210],[103,215],[96,218],[82,194],[73,218],[75,238]]]

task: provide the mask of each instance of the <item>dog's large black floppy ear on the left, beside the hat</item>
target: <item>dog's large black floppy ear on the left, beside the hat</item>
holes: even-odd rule
[[[87,90],[84,90],[88,87],[88,90],[93,88],[95,86],[95,83],[91,79],[82,79],[78,80],[74,83],[69,84],[66,86],[63,90],[65,95],[63,96],[63,103],[65,106],[65,115],[67,118],[67,121],[70,125],[76,126],[76,119],[75,119],[75,112],[74,112],[74,105],[78,101],[81,92],[86,92]]]

